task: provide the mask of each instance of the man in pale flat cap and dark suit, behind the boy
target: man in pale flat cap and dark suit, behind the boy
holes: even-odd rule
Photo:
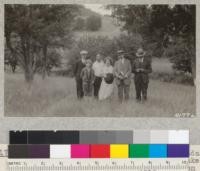
[[[76,91],[78,99],[83,98],[83,86],[82,86],[82,78],[81,71],[85,67],[85,61],[87,58],[88,52],[86,50],[80,51],[80,59],[75,63],[74,67],[74,76],[76,78]]]

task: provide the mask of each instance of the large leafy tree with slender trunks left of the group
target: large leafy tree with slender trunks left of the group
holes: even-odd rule
[[[22,66],[27,82],[33,81],[38,67],[45,77],[50,47],[71,44],[77,11],[76,5],[5,5],[6,45]],[[38,61],[42,61],[40,66]]]

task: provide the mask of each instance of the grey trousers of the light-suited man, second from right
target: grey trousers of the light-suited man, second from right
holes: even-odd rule
[[[121,83],[118,85],[118,98],[120,102],[122,102],[123,99],[129,99],[129,91],[130,85],[126,85],[123,81],[121,81]]]

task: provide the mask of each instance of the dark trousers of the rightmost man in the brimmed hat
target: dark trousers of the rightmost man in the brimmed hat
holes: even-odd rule
[[[142,97],[144,100],[147,99],[147,89],[148,89],[148,81],[144,80],[141,76],[137,76],[135,79],[135,91],[136,91],[136,99],[141,100]]]

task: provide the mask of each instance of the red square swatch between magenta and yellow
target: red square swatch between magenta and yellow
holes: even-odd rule
[[[110,158],[110,145],[92,144],[90,145],[91,158]]]

